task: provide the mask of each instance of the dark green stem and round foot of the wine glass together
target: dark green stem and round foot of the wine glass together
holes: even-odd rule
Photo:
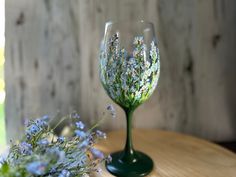
[[[132,142],[132,116],[135,109],[124,109],[127,121],[126,144],[123,151],[111,154],[107,170],[117,177],[143,177],[153,169],[153,161],[146,154],[135,151]]]

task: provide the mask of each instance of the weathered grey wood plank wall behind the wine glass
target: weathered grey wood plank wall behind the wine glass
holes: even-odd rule
[[[134,126],[236,139],[236,1],[7,0],[6,126],[19,136],[24,118],[78,110],[91,124],[106,96],[98,49],[106,21],[154,23],[161,52],[155,93]],[[125,127],[116,120],[104,129]]]

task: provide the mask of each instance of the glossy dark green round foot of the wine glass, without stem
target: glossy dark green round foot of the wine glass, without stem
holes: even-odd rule
[[[135,151],[131,162],[122,160],[123,155],[123,151],[111,154],[112,161],[106,163],[106,168],[111,174],[118,177],[141,177],[152,171],[153,161],[146,154]]]

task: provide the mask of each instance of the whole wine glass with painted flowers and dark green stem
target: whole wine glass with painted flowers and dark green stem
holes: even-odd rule
[[[106,23],[99,68],[103,87],[124,110],[127,120],[125,148],[111,154],[112,161],[106,163],[106,168],[115,176],[145,176],[152,171],[153,161],[133,148],[132,114],[151,96],[159,79],[159,50],[153,24]]]

